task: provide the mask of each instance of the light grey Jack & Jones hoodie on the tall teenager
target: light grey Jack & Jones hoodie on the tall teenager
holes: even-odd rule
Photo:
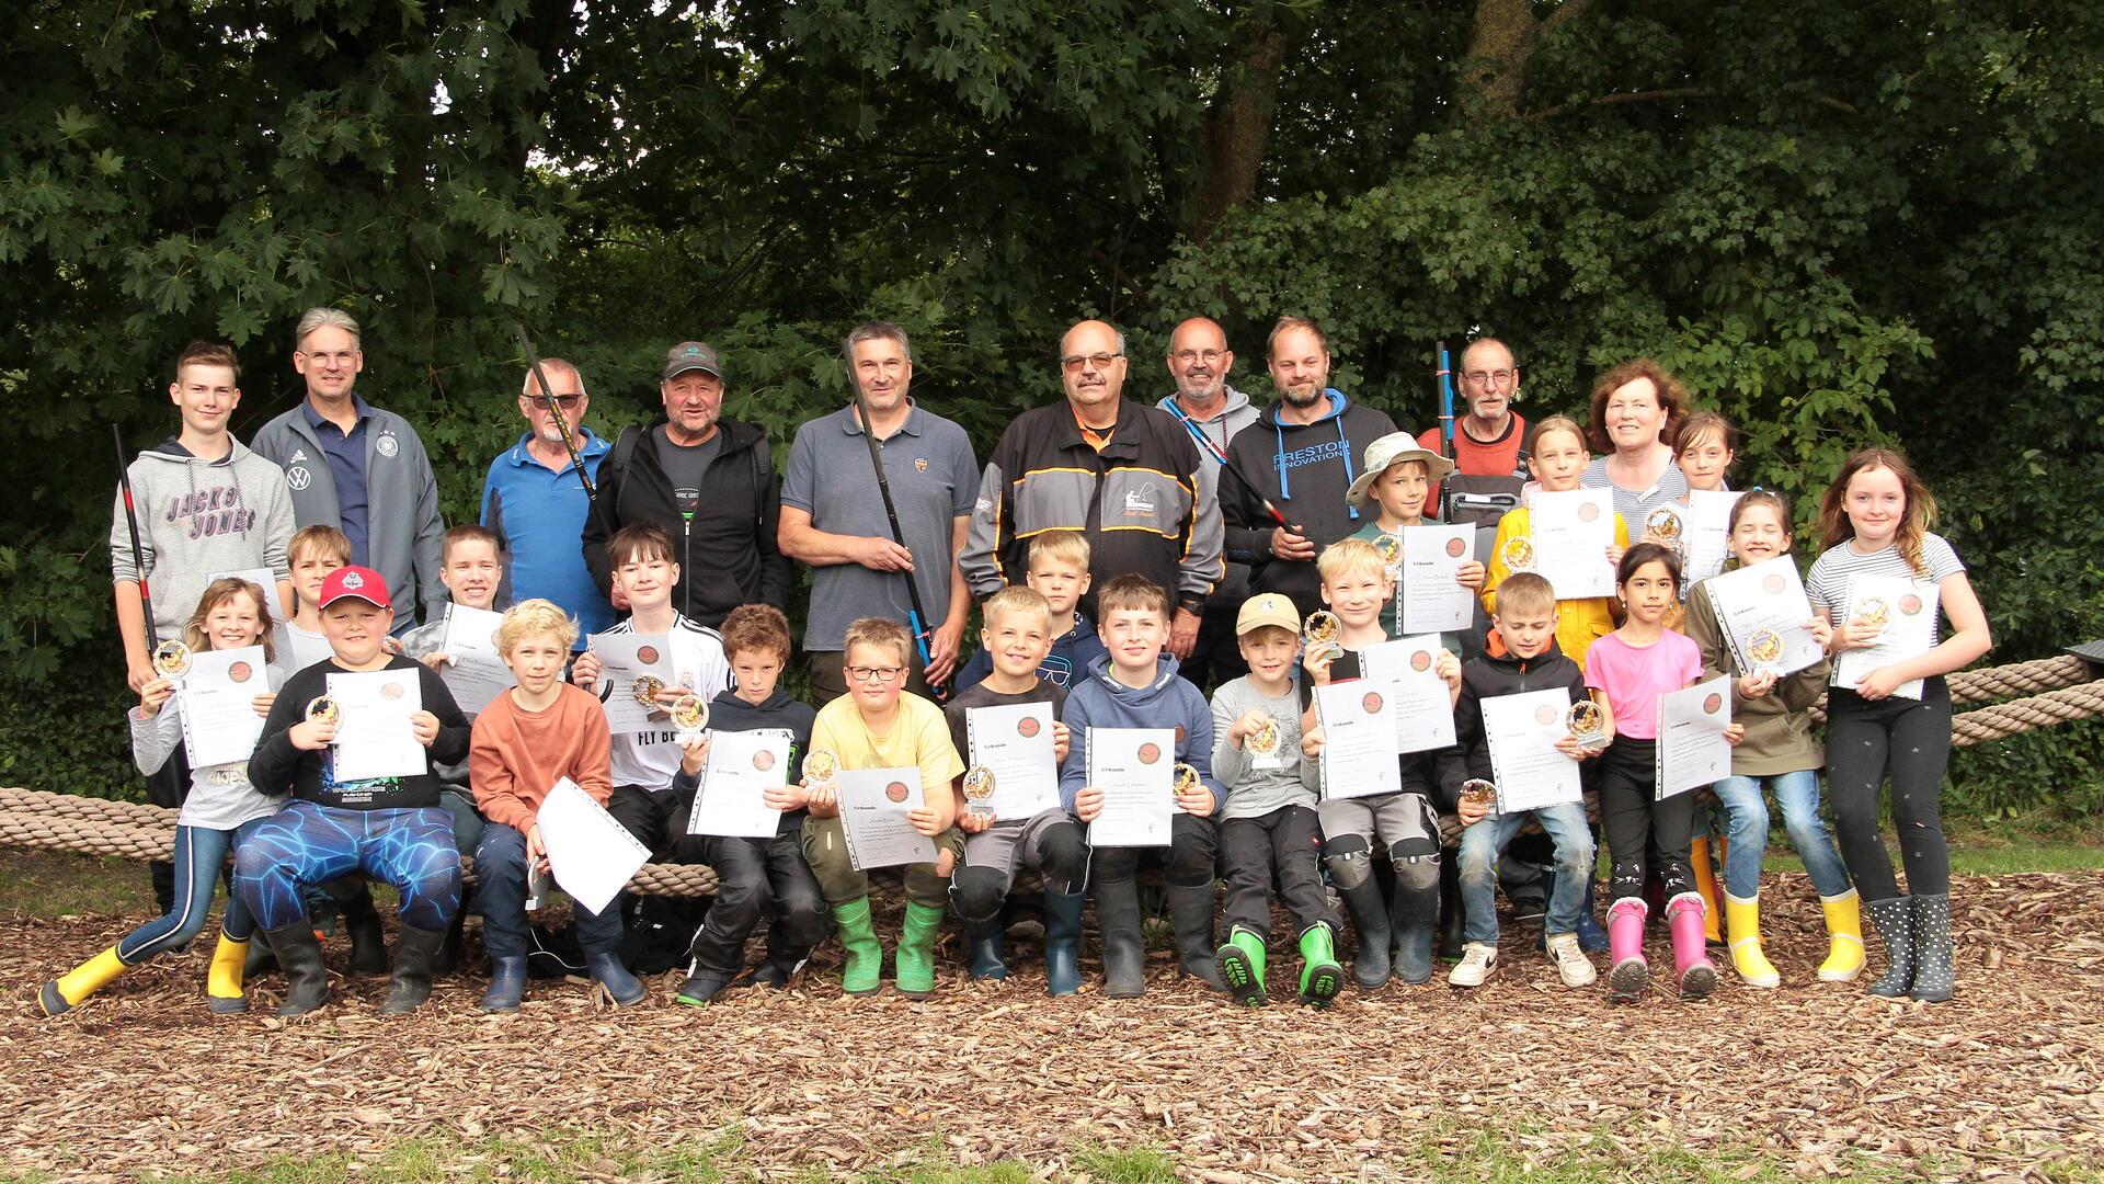
[[[284,470],[242,447],[208,461],[189,455],[170,436],[130,463],[133,506],[139,512],[139,554],[133,556],[124,497],[109,514],[109,577],[118,584],[145,575],[154,596],[154,630],[183,636],[183,624],[215,571],[267,567],[278,579],[288,569],[292,497]],[[263,590],[276,609],[276,588]],[[276,615],[276,613],[271,613]]]

